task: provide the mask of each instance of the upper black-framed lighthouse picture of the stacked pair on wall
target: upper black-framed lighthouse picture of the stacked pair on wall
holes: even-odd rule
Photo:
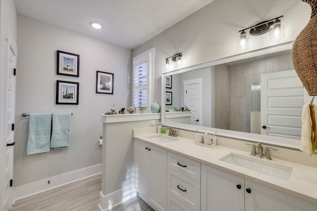
[[[57,50],[57,75],[79,77],[79,55]]]

